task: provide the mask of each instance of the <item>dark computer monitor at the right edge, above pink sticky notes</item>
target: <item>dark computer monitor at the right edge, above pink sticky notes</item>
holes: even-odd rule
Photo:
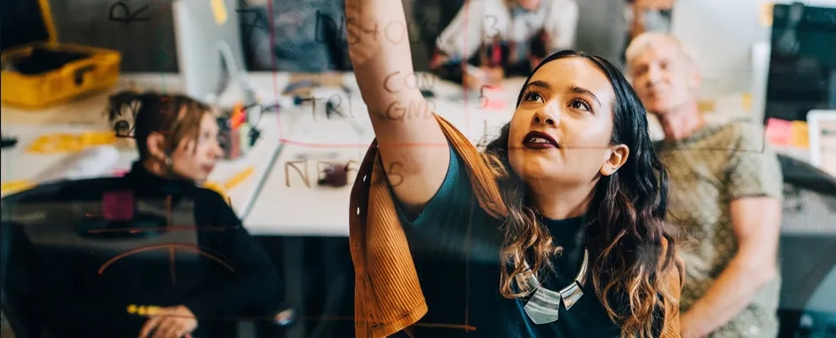
[[[764,122],[836,109],[836,1],[827,3],[775,5]]]

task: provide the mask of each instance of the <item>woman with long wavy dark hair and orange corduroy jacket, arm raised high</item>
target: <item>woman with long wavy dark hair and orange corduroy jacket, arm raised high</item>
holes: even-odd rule
[[[369,33],[403,24],[400,4],[346,13],[376,136],[351,196],[358,337],[679,337],[666,171],[617,67],[544,59],[477,153],[434,114],[385,114],[423,99],[383,86],[413,71],[408,43]]]

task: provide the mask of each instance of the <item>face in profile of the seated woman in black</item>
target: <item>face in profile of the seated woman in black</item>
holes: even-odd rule
[[[185,138],[171,153],[172,169],[179,177],[203,182],[215,168],[217,159],[224,155],[217,142],[217,121],[206,113],[201,118],[197,140]]]

